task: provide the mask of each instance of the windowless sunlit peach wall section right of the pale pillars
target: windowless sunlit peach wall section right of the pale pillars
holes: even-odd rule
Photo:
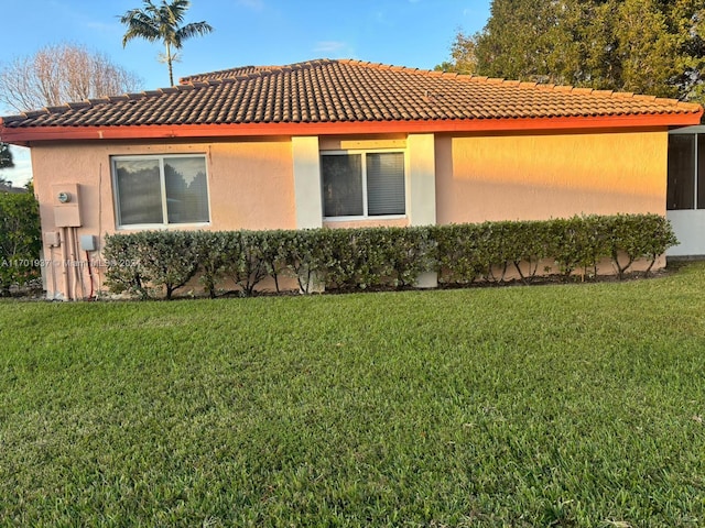
[[[665,131],[436,136],[438,223],[665,215]]]

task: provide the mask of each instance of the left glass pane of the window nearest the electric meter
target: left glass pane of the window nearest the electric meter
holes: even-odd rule
[[[162,223],[162,188],[158,160],[115,162],[121,226]]]

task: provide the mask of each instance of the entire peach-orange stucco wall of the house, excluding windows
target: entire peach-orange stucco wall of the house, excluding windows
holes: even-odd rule
[[[484,136],[440,134],[435,139],[424,134],[416,140],[398,136],[321,139],[321,150],[399,147],[406,148],[412,160],[408,174],[411,199],[408,197],[404,218],[326,221],[324,226],[414,224],[410,219],[430,204],[422,218],[424,221],[419,223],[433,223],[433,219],[444,224],[540,220],[581,213],[665,213],[665,130]],[[32,145],[34,184],[44,233],[59,231],[63,239],[73,237],[77,240],[82,234],[100,239],[117,230],[110,156],[189,153],[205,154],[208,170],[212,221],[198,229],[296,228],[290,139],[150,144],[86,142]],[[414,186],[417,183],[414,178],[425,178],[430,188]],[[54,195],[56,184],[62,183],[79,185],[83,226],[76,230],[55,228],[57,200]],[[310,198],[321,199],[319,196]],[[431,220],[426,221],[426,217]],[[188,229],[185,226],[177,228]],[[63,243],[54,250],[45,248],[44,258],[85,258],[76,252],[72,254],[67,245]],[[94,255],[99,260],[99,253]],[[94,271],[95,287],[100,288],[105,270]],[[89,284],[85,267],[77,271],[52,267],[51,274],[45,273],[47,290],[50,294],[58,292],[65,298],[85,297],[85,293],[79,294],[76,287],[80,283],[78,277]],[[72,287],[66,286],[69,283]]]

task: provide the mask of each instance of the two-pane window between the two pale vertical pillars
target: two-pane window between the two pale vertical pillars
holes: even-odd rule
[[[325,153],[321,172],[327,218],[406,212],[403,152]]]

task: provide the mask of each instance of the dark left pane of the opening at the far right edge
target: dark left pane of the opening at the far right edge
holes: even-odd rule
[[[695,206],[695,134],[669,135],[666,209]]]

